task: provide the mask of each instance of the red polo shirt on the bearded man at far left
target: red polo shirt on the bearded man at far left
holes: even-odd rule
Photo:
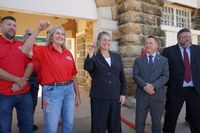
[[[22,77],[28,64],[25,54],[22,53],[23,42],[14,39],[12,42],[7,41],[0,36],[0,68],[3,70]],[[0,93],[4,95],[16,95],[29,91],[30,86],[25,86],[18,92],[11,90],[13,82],[0,79]]]

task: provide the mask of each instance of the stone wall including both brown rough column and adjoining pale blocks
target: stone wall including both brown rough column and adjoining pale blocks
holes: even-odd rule
[[[136,85],[132,79],[135,58],[141,53],[145,37],[158,37],[165,46],[165,34],[161,30],[164,0],[95,0],[98,20],[94,23],[94,37],[102,31],[112,35],[122,56],[127,81],[127,95],[134,95]]]

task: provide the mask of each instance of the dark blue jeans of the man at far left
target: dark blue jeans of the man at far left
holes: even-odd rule
[[[0,94],[0,101],[0,133],[11,133],[13,108],[20,121],[20,133],[33,133],[33,102],[30,92],[11,96]]]

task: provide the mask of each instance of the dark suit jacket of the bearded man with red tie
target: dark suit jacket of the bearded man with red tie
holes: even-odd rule
[[[191,45],[190,54],[192,81],[196,92],[200,95],[200,46]],[[185,66],[179,45],[177,44],[165,48],[162,55],[167,57],[169,62],[170,76],[167,84],[168,91],[176,94],[181,93],[184,82]]]

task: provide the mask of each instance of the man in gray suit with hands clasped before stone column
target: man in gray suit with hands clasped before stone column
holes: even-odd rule
[[[147,113],[152,117],[152,133],[161,133],[161,117],[164,109],[164,85],[169,79],[167,58],[158,53],[159,43],[154,36],[145,42],[146,54],[135,60],[133,79],[136,90],[136,133],[144,133]]]

